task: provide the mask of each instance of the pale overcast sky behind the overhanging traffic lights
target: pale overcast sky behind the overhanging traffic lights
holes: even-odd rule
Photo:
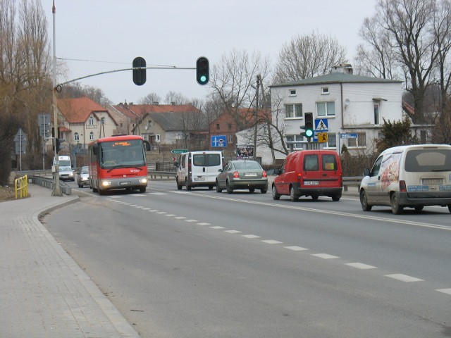
[[[53,39],[53,0],[41,0]],[[376,0],[54,0],[56,57],[66,59],[68,76],[130,68],[142,56],[147,66],[194,68],[199,56],[217,63],[230,51],[260,51],[276,63],[292,37],[314,31],[336,37],[350,63],[363,20],[375,13]],[[77,61],[75,61],[77,60]],[[195,70],[147,70],[137,86],[132,71],[88,77],[113,104],[137,103],[151,92],[163,100],[169,91],[205,99]]]

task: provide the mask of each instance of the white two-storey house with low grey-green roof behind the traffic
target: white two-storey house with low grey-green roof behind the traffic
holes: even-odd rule
[[[353,75],[350,65],[333,67],[328,75],[273,84],[270,89],[273,123],[283,130],[292,151],[315,147],[340,152],[345,145],[350,151],[373,152],[383,119],[403,118],[402,81]],[[300,129],[305,113],[313,113],[315,141],[317,133],[326,132],[327,142],[307,144]]]

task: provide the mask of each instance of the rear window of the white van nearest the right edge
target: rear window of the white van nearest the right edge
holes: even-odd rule
[[[451,171],[451,151],[447,149],[413,149],[407,152],[404,170],[412,173]]]

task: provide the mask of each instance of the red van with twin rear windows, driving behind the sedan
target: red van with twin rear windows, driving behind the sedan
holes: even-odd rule
[[[340,201],[343,189],[340,158],[331,150],[302,150],[288,154],[273,182],[273,199],[288,195],[292,201],[300,196],[332,197]]]

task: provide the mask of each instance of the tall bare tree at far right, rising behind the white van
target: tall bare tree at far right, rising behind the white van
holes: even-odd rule
[[[414,98],[415,112],[409,114],[414,123],[425,122],[426,89],[435,81],[438,63],[448,57],[450,32],[449,0],[378,0],[376,15],[362,27],[362,37],[373,46],[372,51],[376,46],[384,48],[376,50],[379,73],[385,74],[385,68],[395,61],[404,75],[406,89]],[[388,59],[382,59],[383,55]],[[445,68],[439,74],[449,80]]]

